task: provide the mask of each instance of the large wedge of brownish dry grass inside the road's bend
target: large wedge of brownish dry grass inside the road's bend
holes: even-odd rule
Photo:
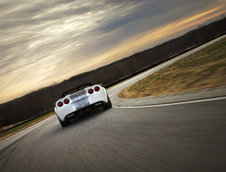
[[[124,89],[119,97],[138,98],[226,85],[226,38]]]

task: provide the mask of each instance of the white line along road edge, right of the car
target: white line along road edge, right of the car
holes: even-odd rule
[[[175,103],[165,103],[165,104],[158,104],[158,105],[144,105],[144,106],[113,106],[113,108],[117,109],[137,109],[137,108],[150,108],[150,107],[164,107],[164,106],[175,106],[175,105],[184,105],[184,104],[191,104],[191,103],[201,103],[201,102],[208,102],[208,101],[217,101],[217,100],[224,100],[224,97],[216,97],[216,98],[208,98],[208,99],[200,99],[200,100],[191,100],[191,101],[184,101],[184,102],[175,102]]]

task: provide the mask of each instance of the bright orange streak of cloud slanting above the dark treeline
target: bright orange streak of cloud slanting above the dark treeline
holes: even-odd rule
[[[162,39],[169,38],[174,34],[178,34],[185,31],[186,29],[192,28],[202,24],[205,21],[214,19],[217,16],[224,14],[225,10],[223,9],[224,6],[220,5],[194,16],[183,18],[166,26],[150,30],[146,33],[143,33],[142,35],[134,36],[133,38],[122,42],[114,49],[111,49],[108,52],[93,59],[89,67],[96,66],[102,61],[112,62],[114,60],[118,60],[120,57],[125,57],[137,51],[141,51],[144,47],[147,47],[147,45],[151,45],[152,43],[156,43]]]

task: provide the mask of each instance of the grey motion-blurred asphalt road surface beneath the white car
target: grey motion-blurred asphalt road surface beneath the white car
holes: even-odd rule
[[[226,99],[51,117],[0,150],[5,171],[225,171]],[[2,143],[3,144],[3,143]]]

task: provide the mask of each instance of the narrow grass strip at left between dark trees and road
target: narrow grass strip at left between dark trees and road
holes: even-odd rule
[[[38,123],[38,122],[40,122],[40,121],[43,121],[44,119],[49,118],[50,116],[52,116],[54,114],[55,114],[55,112],[50,112],[50,113],[44,114],[44,115],[42,115],[42,116],[40,116],[38,118],[35,118],[33,120],[30,120],[28,122],[25,122],[25,123],[23,123],[21,125],[18,125],[16,127],[13,127],[11,129],[2,131],[0,133],[0,141],[1,140],[4,140],[5,138],[7,138],[7,137],[9,137],[9,136],[11,136],[13,134],[16,134],[16,133],[24,130],[24,129],[26,129],[26,128],[28,128],[28,127],[30,127],[30,126]]]

